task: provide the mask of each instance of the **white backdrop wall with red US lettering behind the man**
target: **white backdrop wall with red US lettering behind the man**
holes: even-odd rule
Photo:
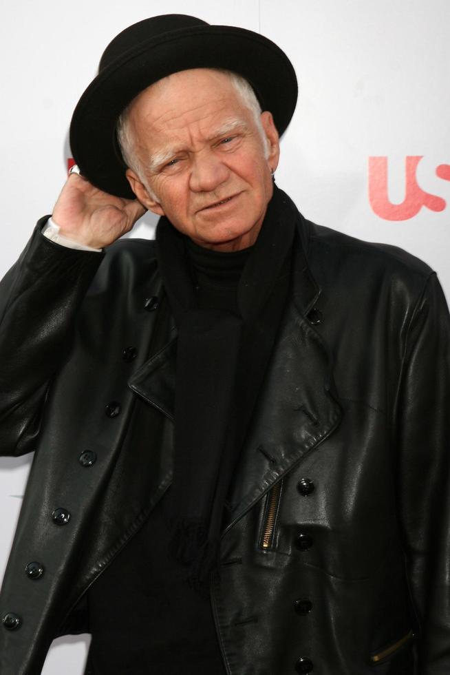
[[[450,298],[448,0],[3,5],[2,275],[37,218],[52,211],[70,156],[72,110],[103,48],[125,26],[162,12],[240,25],[278,43],[297,70],[300,96],[281,144],[277,184],[306,217],[423,258]],[[147,216],[133,236],[152,236],[153,226]],[[0,577],[29,464],[29,457],[0,459]],[[82,674],[88,642],[55,641],[43,674]]]

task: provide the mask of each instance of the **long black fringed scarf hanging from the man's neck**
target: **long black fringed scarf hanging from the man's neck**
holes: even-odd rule
[[[167,218],[156,229],[178,326],[169,526],[199,590],[217,569],[224,501],[286,303],[295,214],[275,187],[239,280],[239,314],[199,309],[186,238]]]

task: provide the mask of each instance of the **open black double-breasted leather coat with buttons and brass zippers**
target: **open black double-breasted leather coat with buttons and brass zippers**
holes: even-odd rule
[[[292,294],[211,590],[226,669],[448,675],[442,291],[407,253],[296,217]],[[39,674],[52,638],[83,630],[83,593],[171,481],[176,335],[153,242],[86,253],[42,225],[1,300],[0,448],[36,450],[0,596],[1,675]],[[145,453],[129,443],[136,406],[154,428]]]

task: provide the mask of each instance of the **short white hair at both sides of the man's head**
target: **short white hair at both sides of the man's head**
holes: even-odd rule
[[[269,142],[268,138],[266,137],[266,134],[264,133],[264,128],[261,123],[261,112],[262,112],[261,105],[259,105],[259,101],[257,99],[255,91],[251,87],[250,83],[248,83],[248,81],[244,77],[238,75],[235,72],[232,72],[231,70],[224,70],[222,68],[211,68],[211,70],[214,70],[215,72],[221,72],[228,77],[244,106],[248,110],[250,110],[250,112],[253,114],[255,124],[261,136],[261,141],[263,142],[264,145],[264,156],[267,159],[269,154]],[[133,98],[133,101],[131,101],[131,103],[127,105],[125,110],[123,110],[120,116],[118,117],[118,121],[116,124],[117,141],[120,147],[120,152],[122,153],[122,157],[127,167],[133,169],[133,171],[136,172],[142,183],[144,183],[145,187],[147,187],[147,190],[149,191],[150,195],[152,197],[155,197],[155,195],[147,185],[144,169],[136,153],[134,134],[131,131],[129,125],[129,111],[134,101],[135,99]]]

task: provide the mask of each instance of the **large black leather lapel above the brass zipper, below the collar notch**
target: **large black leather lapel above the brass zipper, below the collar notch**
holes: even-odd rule
[[[330,360],[294,304],[285,315],[235,479],[225,531],[330,435],[341,419]]]

